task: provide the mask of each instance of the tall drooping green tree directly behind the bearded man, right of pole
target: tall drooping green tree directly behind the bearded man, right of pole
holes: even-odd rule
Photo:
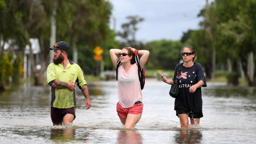
[[[65,40],[70,44],[69,58],[75,59],[74,53],[78,53],[78,64],[85,73],[95,73],[93,49],[99,45],[104,50],[103,55],[109,56],[109,47],[116,47],[113,45],[116,43],[114,31],[109,28],[111,3],[106,0],[70,0],[59,5],[67,10],[62,13],[57,10],[57,21],[62,21],[57,22],[57,41]]]

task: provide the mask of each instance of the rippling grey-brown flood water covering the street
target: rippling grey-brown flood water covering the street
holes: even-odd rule
[[[50,86],[13,87],[0,93],[0,143],[209,144],[256,142],[256,87],[207,83],[200,125],[180,128],[170,85],[147,80],[143,113],[135,128],[123,128],[116,113],[117,82],[88,83],[92,106],[76,88],[76,119],[52,126]]]

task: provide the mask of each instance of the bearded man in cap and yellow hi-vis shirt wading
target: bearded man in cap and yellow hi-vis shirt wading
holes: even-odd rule
[[[78,64],[67,58],[69,44],[57,42],[50,50],[54,50],[53,63],[47,68],[47,83],[52,87],[51,119],[53,125],[69,125],[76,118],[75,83],[85,97],[85,108],[90,109],[91,102],[87,83]]]

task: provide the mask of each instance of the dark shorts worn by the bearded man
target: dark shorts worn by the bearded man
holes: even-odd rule
[[[66,114],[72,114],[74,115],[74,119],[76,118],[76,108],[71,107],[67,109],[58,109],[55,107],[51,107],[51,118],[52,118],[52,123],[60,123],[61,121],[63,122],[63,118]]]

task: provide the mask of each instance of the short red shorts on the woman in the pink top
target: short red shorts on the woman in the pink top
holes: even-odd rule
[[[143,103],[134,104],[134,106],[130,108],[122,108],[122,106],[119,103],[116,104],[117,115],[120,116],[121,118],[126,118],[128,113],[134,114],[134,115],[137,115],[140,113],[140,115],[142,115],[142,110],[143,110]]]

